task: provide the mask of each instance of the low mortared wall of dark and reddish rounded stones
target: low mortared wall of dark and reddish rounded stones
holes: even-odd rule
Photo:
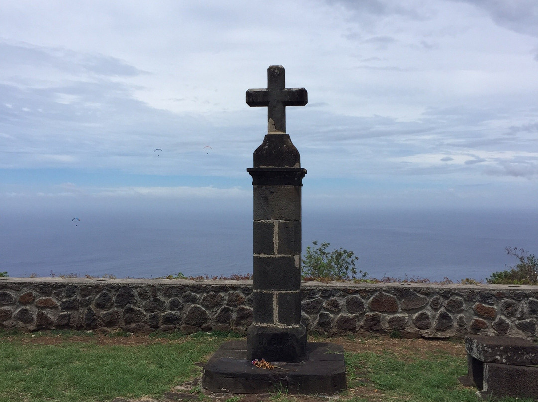
[[[304,282],[308,331],[537,339],[538,287]],[[0,328],[234,330],[252,322],[252,281],[0,278]]]

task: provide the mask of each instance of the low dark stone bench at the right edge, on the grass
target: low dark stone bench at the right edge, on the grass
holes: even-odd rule
[[[482,398],[538,399],[538,344],[509,336],[468,335],[465,350],[468,374],[459,381],[475,385]]]

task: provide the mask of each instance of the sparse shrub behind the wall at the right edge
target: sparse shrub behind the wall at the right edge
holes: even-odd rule
[[[493,272],[486,279],[487,283],[538,285],[538,261],[536,261],[536,257],[517,247],[506,247],[506,253],[516,257],[519,263],[504,271]]]

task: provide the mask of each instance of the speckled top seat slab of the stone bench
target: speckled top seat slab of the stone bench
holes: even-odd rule
[[[521,338],[468,335],[465,350],[484,363],[538,365],[538,344]]]

